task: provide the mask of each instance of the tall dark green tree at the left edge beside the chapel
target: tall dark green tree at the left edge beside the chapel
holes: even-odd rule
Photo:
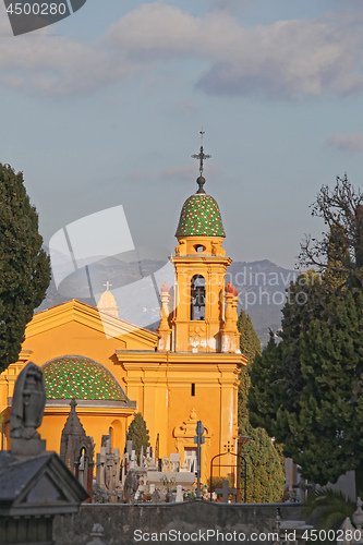
[[[0,372],[17,361],[26,324],[50,280],[23,174],[0,164]]]

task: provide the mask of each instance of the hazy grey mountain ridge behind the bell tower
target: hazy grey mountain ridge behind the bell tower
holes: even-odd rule
[[[85,269],[88,282],[85,281]],[[237,288],[239,310],[243,308],[250,315],[263,346],[268,342],[269,329],[277,331],[281,327],[286,290],[297,277],[297,270],[286,269],[269,259],[233,262],[227,269],[226,283],[231,282]],[[36,312],[70,299],[96,306],[97,296],[110,282],[120,307],[120,317],[155,330],[159,320],[160,286],[165,280],[169,286],[173,282],[170,262],[122,262],[100,256],[98,262],[68,275],[58,286],[52,277],[46,298]]]

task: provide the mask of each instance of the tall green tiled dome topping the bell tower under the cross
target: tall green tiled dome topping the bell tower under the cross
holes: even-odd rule
[[[196,193],[185,201],[176,237],[226,237],[218,205],[210,195]]]

